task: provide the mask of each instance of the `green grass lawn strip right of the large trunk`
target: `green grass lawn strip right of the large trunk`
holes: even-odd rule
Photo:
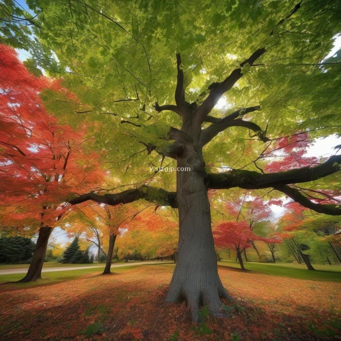
[[[240,269],[237,262],[222,260],[219,265]],[[260,272],[266,275],[284,276],[298,279],[322,280],[341,282],[341,266],[313,264],[315,271],[307,270],[305,265],[293,263],[258,263],[244,262],[249,271]],[[242,270],[241,270],[242,271]]]

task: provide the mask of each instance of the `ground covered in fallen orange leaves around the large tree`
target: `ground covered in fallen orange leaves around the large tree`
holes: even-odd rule
[[[116,271],[116,269],[115,269]],[[164,298],[173,265],[100,272],[49,286],[0,287],[3,340],[341,339],[341,284],[220,267],[236,298],[226,318],[195,325],[185,304]],[[205,312],[203,312],[205,319]]]

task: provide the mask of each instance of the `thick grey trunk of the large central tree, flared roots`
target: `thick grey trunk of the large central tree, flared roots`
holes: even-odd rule
[[[190,147],[192,150],[186,150],[178,157],[177,166],[190,167],[191,171],[177,171],[178,261],[166,302],[186,300],[192,320],[198,322],[200,305],[205,304],[210,313],[219,314],[219,295],[232,298],[218,276],[201,150],[196,150],[195,146]]]

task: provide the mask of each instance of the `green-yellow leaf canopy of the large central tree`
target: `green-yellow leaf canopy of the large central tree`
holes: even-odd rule
[[[122,183],[138,183],[153,175],[148,165],[157,166],[161,161],[154,151],[142,152],[140,141],[161,150],[167,147],[169,126],[181,125],[175,113],[156,113],[153,108],[155,101],[174,103],[177,52],[182,56],[186,98],[200,103],[209,94],[210,84],[221,82],[241,61],[266,46],[260,65],[244,65],[243,78],[229,91],[228,107],[213,109],[212,116],[222,117],[246,103],[260,104],[252,120],[262,128],[268,124],[271,138],[298,130],[311,130],[311,138],[339,133],[340,64],[316,65],[341,31],[337,10],[328,2],[308,0],[277,27],[295,3],[252,3],[217,2],[212,6],[208,0],[186,0],[180,6],[177,1],[139,0],[121,6],[104,0],[90,0],[86,5],[29,0],[30,10],[39,13],[34,27],[39,41],[33,48],[24,43],[30,39],[15,38],[31,51],[36,65],[44,64],[50,74],[63,76],[63,85],[84,105],[77,116],[99,123],[92,124],[91,134],[98,150],[106,152],[107,161],[115,159],[111,174],[120,174]],[[6,6],[19,11],[13,1],[7,0]],[[20,35],[21,31],[13,32]],[[48,48],[58,63],[50,58]],[[337,56],[326,62],[338,61]],[[54,102],[56,107],[63,104]],[[74,124],[74,114],[66,115],[64,109],[57,112],[63,122]],[[328,131],[314,130],[327,126]],[[233,166],[258,172],[250,161],[263,149],[264,143],[250,140],[247,129],[233,127],[208,144],[204,156],[206,164],[213,163],[211,170]],[[175,188],[174,177],[165,172],[159,172],[153,181]]]

